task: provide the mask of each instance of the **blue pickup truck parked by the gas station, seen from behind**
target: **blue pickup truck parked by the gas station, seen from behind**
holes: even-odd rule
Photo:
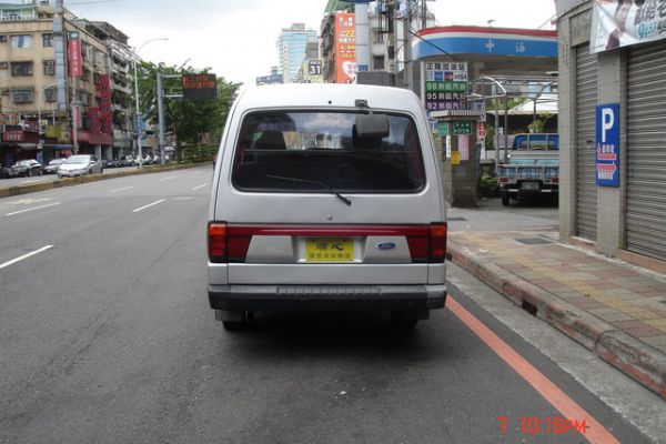
[[[516,134],[507,160],[497,171],[502,204],[527,195],[559,194],[558,134]]]

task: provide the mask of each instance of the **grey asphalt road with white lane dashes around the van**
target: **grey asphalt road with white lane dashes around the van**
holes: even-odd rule
[[[589,438],[558,433],[555,418],[594,418],[618,442],[658,436],[506,326],[537,320],[484,310],[484,297],[502,297],[454,265],[450,302],[585,416],[565,416],[452,310],[411,334],[376,313],[260,315],[245,332],[223,332],[205,293],[211,181],[206,165],[0,200],[0,442]],[[562,335],[548,343],[575,347]]]

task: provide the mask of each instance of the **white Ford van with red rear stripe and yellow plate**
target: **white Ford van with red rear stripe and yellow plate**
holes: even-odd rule
[[[226,122],[208,225],[209,300],[226,330],[263,311],[382,310],[413,327],[446,297],[446,214],[411,91],[243,91]]]

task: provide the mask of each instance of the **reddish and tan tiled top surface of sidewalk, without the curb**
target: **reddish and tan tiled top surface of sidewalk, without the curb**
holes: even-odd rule
[[[548,238],[525,232],[453,232],[488,262],[555,294],[581,310],[666,352],[666,276],[642,273],[620,261],[561,244],[525,244],[518,239]],[[662,310],[659,310],[662,309]],[[649,341],[648,341],[649,340]]]

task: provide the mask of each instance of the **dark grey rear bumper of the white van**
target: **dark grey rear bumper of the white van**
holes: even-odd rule
[[[209,285],[213,310],[442,309],[446,285]]]

